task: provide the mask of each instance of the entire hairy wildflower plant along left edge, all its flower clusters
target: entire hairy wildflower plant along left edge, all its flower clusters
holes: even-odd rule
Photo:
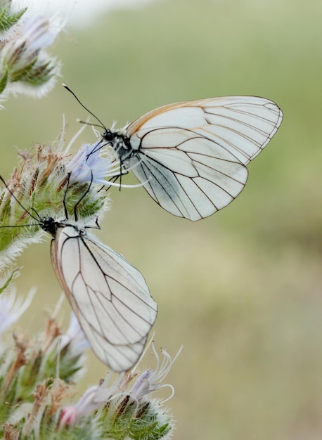
[[[46,52],[61,30],[54,21],[28,17],[26,8],[0,0],[0,101],[12,93],[39,97],[51,89],[60,72],[60,63]],[[64,134],[63,129],[52,145],[20,151],[20,167],[8,179],[0,174],[0,438],[168,439],[172,416],[153,393],[169,387],[172,396],[172,385],[163,381],[176,357],[162,350],[160,361],[153,346],[154,370],[139,373],[136,365],[91,378],[79,397],[77,380],[86,370],[89,343],[76,316],[72,313],[66,331],[59,308],[35,336],[16,329],[36,289],[18,295],[13,282],[20,271],[8,266],[26,245],[41,240],[46,218],[97,226],[109,207],[102,185],[108,179],[112,185],[120,174],[108,145],[85,143],[75,154]]]

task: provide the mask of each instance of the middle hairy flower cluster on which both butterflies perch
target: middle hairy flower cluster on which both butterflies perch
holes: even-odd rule
[[[89,188],[89,174],[80,175],[82,164],[75,159],[75,167],[71,166],[72,155],[64,153],[62,145],[63,142],[57,147],[34,145],[30,153],[19,153],[22,167],[14,170],[0,192],[0,267],[27,244],[41,239],[42,218],[66,219],[65,209],[67,217],[73,217],[77,205],[78,220],[88,222],[108,206],[106,191],[98,191],[95,185],[96,168],[92,168],[94,184]],[[101,160],[104,159],[98,158],[98,172]],[[108,166],[109,160],[105,161]]]

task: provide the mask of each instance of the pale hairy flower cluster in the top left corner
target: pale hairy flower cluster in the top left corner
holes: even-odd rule
[[[60,62],[49,56],[63,27],[58,18],[29,17],[27,8],[0,1],[0,100],[11,93],[44,96],[60,75]]]

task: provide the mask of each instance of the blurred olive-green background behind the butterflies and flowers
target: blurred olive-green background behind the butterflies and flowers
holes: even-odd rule
[[[146,277],[159,304],[156,346],[174,355],[184,345],[168,377],[176,440],[322,437],[321,18],[321,0],[159,0],[68,28],[56,45],[63,82],[107,127],[234,94],[284,112],[223,211],[193,224],[141,188],[115,189],[97,233]],[[1,175],[18,164],[12,145],[50,143],[63,113],[69,139],[87,115],[60,84],[48,98],[6,103]],[[81,140],[94,141],[91,129]],[[60,296],[45,241],[18,259],[20,292],[38,287],[19,323],[30,333]],[[105,375],[89,356],[82,390]]]

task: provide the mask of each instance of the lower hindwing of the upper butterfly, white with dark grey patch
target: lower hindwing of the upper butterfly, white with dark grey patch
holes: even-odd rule
[[[169,132],[170,140],[176,129],[153,130],[146,137],[158,137],[159,131]],[[193,152],[195,143],[198,153]],[[172,148],[149,148],[132,169],[139,181],[146,181],[150,196],[172,214],[202,219],[228,205],[243,189],[247,168],[225,150],[215,157],[209,139],[194,135],[178,144],[174,154]]]

